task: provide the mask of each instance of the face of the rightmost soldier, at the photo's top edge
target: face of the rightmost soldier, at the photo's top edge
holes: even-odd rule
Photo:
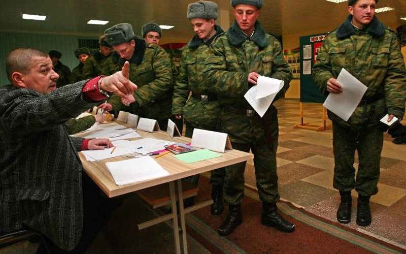
[[[375,16],[375,0],[358,0],[354,6],[348,7],[348,12],[352,14],[352,23],[361,28],[367,25]]]

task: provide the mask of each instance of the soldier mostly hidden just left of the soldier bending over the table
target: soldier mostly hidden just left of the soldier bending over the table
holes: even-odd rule
[[[94,78],[103,73],[103,63],[111,55],[112,47],[105,40],[102,35],[98,39],[99,50],[91,55],[83,66],[82,80]]]

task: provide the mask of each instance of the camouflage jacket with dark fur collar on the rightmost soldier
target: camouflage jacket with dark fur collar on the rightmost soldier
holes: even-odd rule
[[[358,106],[345,122],[328,112],[331,120],[359,130],[380,125],[387,113],[402,117],[406,97],[406,70],[395,33],[377,17],[362,29],[351,24],[352,16],[325,39],[313,66],[313,80],[326,91],[327,80],[337,78],[342,68],[368,87],[363,99],[375,101]]]

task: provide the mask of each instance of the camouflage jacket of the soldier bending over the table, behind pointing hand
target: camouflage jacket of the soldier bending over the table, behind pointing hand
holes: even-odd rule
[[[117,66],[112,58],[107,59],[105,70],[110,73],[104,74],[111,75],[121,70],[124,62],[125,59],[120,59]],[[121,103],[120,97],[113,95],[109,100],[113,110],[157,120],[171,117],[173,76],[168,54],[158,45],[147,46],[144,40],[136,38],[136,50],[129,62],[129,79],[138,86],[133,94],[136,102],[127,107]]]

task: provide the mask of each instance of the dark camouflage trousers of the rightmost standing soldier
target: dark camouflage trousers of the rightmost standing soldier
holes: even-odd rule
[[[358,132],[333,122],[334,188],[340,192],[352,189],[363,195],[378,193],[383,132],[379,129]],[[354,164],[355,150],[358,151],[358,171]]]

